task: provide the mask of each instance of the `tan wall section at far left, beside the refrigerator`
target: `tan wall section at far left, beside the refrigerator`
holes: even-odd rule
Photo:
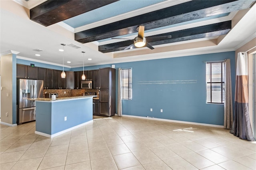
[[[0,72],[1,122],[12,125],[12,54],[1,56]]]

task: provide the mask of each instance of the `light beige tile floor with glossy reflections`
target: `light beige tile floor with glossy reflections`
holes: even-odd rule
[[[54,138],[36,122],[0,125],[1,170],[250,170],[256,143],[223,128],[131,117],[95,117]]]

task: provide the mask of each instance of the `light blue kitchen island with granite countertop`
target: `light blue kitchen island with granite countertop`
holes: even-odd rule
[[[36,134],[53,138],[92,122],[92,98],[63,97],[52,100],[37,98]]]

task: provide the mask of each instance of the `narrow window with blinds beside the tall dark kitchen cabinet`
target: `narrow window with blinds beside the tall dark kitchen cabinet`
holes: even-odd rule
[[[122,99],[132,100],[132,69],[122,69]]]

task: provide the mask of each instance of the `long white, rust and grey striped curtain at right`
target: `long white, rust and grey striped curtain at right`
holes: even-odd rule
[[[241,139],[254,141],[248,111],[248,56],[238,53],[236,63],[234,123],[230,132]]]

